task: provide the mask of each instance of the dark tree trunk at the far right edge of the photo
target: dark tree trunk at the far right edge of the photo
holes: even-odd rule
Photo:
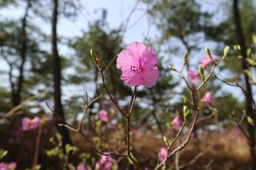
[[[241,54],[244,60],[242,60],[242,69],[250,69],[245,61],[247,58],[246,55],[246,43],[245,43],[245,36],[242,32],[242,24],[240,20],[240,11],[238,8],[238,0],[233,0],[233,12],[234,12],[234,21],[235,21],[235,30],[238,37],[238,42],[241,47]],[[247,77],[247,74],[244,74],[245,77],[245,85],[246,85],[246,91],[245,93],[245,99],[246,99],[246,114],[247,116],[250,116],[253,120],[255,120],[255,115],[253,114],[253,108],[252,108],[252,88],[249,83],[249,77]],[[251,154],[251,162],[252,162],[252,169],[256,169],[256,155],[255,155],[255,128],[250,125],[250,123],[247,123],[247,131],[250,136],[250,154]]]

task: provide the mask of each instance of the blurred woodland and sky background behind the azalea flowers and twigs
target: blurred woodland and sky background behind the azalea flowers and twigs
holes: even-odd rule
[[[187,53],[186,76],[188,69],[198,72],[205,47],[220,59],[230,45],[215,74],[245,87],[240,56],[247,49],[255,52],[255,23],[255,0],[0,0],[0,164],[12,162],[16,169],[78,169],[82,164],[97,169],[101,156],[91,144],[58,123],[77,127],[86,100],[100,94],[88,107],[81,130],[102,151],[125,152],[125,119],[103,89],[90,50],[100,57],[107,88],[126,112],[132,88],[120,80],[116,59],[129,42],[139,41],[154,49],[160,77],[151,89],[139,86],[132,112],[132,152],[137,169],[154,169],[165,147],[163,137],[175,137],[172,120],[183,120],[184,97],[190,99],[186,84],[169,65],[181,69]],[[241,50],[234,50],[238,44]],[[250,67],[251,80],[254,73]],[[254,84],[250,88],[253,99]],[[212,94],[210,106],[200,99],[206,91]],[[238,86],[211,77],[198,93],[202,109],[191,140],[170,159],[170,169],[250,169],[256,164],[255,150],[250,150],[255,145],[255,110],[247,119],[247,100]],[[102,118],[102,110],[107,118]],[[190,123],[178,142],[186,138]],[[111,169],[135,168],[116,156]]]

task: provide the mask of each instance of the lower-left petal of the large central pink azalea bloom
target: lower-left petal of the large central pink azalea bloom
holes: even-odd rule
[[[131,72],[129,70],[122,72],[121,79],[130,86],[140,86],[143,84],[143,79],[141,75],[138,73]]]

